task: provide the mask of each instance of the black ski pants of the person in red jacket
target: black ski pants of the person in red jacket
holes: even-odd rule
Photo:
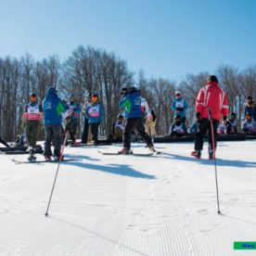
[[[212,127],[213,127],[213,134],[214,134],[214,141],[215,141],[215,148],[217,147],[217,128],[219,126],[219,120],[212,120]],[[211,122],[209,119],[203,118],[198,122],[198,133],[196,133],[196,140],[195,140],[195,150],[202,150],[203,149],[203,141],[204,135],[208,132],[209,139],[208,139],[208,149],[209,151],[213,148],[212,144],[212,135],[211,135]]]

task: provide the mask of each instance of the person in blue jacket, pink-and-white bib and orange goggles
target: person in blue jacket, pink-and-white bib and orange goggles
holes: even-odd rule
[[[85,109],[85,116],[88,119],[89,129],[92,133],[92,140],[98,142],[98,126],[104,120],[104,110],[99,103],[97,94],[92,96],[91,104]]]

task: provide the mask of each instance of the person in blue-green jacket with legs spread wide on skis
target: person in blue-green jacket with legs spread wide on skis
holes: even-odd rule
[[[123,148],[119,154],[131,153],[131,138],[130,135],[137,130],[138,134],[146,141],[147,147],[154,152],[154,146],[151,138],[145,132],[143,122],[143,112],[141,109],[140,91],[135,87],[129,88],[128,94],[124,94],[119,102],[119,107],[125,109],[126,124],[123,132]]]

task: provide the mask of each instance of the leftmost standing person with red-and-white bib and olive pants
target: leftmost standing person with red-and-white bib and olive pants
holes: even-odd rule
[[[37,135],[42,124],[43,109],[42,105],[38,103],[35,94],[32,94],[30,99],[31,102],[25,106],[23,122],[30,152],[29,160],[35,160],[34,150],[36,147]]]

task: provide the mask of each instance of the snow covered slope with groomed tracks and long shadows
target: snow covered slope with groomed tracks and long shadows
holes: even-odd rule
[[[221,215],[207,145],[202,160],[191,143],[156,147],[163,154],[147,158],[65,148],[77,160],[60,164],[48,217],[58,163],[0,155],[0,255],[255,255],[233,243],[256,240],[256,142],[219,143]]]

